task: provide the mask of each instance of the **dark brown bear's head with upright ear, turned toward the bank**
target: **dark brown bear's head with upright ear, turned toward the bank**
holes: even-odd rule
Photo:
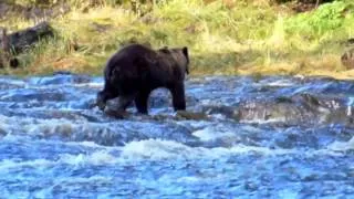
[[[165,54],[170,54],[171,57],[177,62],[179,67],[183,69],[187,74],[189,74],[189,53],[187,46],[175,49],[168,49],[167,46],[164,46],[158,51]]]

